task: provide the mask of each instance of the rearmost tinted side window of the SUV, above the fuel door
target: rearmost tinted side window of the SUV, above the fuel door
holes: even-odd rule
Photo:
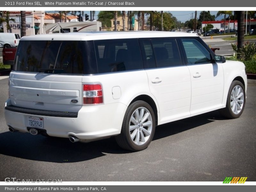
[[[99,73],[142,69],[138,39],[94,41]]]

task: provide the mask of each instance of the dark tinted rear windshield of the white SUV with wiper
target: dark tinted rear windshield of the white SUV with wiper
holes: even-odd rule
[[[17,71],[84,74],[81,41],[20,41]]]

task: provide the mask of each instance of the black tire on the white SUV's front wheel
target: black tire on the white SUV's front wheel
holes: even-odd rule
[[[237,110],[237,111],[233,111],[231,107],[231,102],[233,101],[231,99],[231,94],[232,94],[232,91],[235,87],[238,87],[238,88],[241,88],[242,91],[243,91],[243,105],[240,106],[240,103],[241,103],[241,99],[239,102],[237,102],[237,99],[238,98],[235,98],[234,102],[235,104],[233,105],[236,105],[236,103],[238,103],[238,105],[240,106],[241,110]],[[241,98],[241,97],[240,97]],[[233,81],[232,84],[230,85],[230,88],[229,88],[229,91],[228,91],[228,98],[227,98],[227,104],[226,104],[226,108],[224,109],[221,109],[220,110],[220,114],[224,117],[227,117],[227,118],[230,118],[230,119],[234,119],[234,118],[238,118],[241,116],[241,114],[243,113],[244,111],[244,105],[245,105],[245,91],[244,91],[244,85],[240,82],[240,81]],[[238,99],[239,100],[239,99]]]

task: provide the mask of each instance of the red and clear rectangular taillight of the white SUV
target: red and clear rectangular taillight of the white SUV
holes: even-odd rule
[[[83,84],[84,105],[103,103],[101,84]]]

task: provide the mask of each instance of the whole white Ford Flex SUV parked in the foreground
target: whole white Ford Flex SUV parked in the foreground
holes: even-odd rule
[[[25,36],[9,78],[11,132],[70,141],[116,136],[142,150],[156,125],[244,109],[245,66],[216,56],[195,34],[98,32]]]

